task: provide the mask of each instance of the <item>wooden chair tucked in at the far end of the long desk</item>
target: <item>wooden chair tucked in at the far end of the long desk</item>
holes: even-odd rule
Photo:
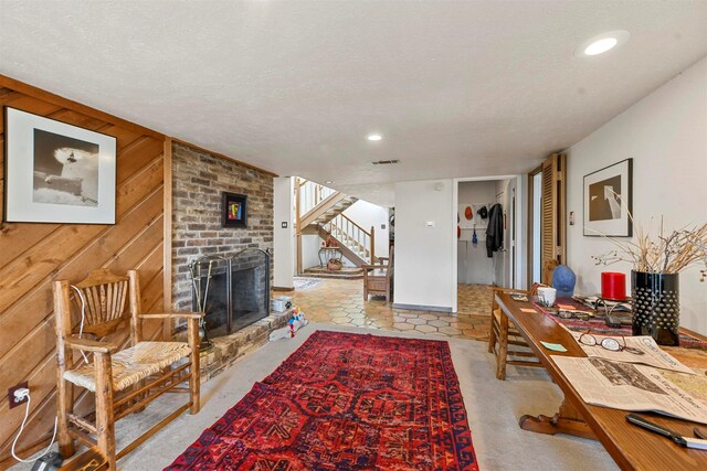
[[[490,330],[488,332],[488,352],[496,355],[496,377],[498,379],[506,379],[506,365],[542,367],[542,364],[540,364],[513,322],[502,312],[498,302],[496,302],[496,295],[503,292],[508,295],[534,296],[539,286],[540,285],[534,285],[530,290],[492,288],[493,298],[490,307]],[[496,350],[496,344],[498,344],[498,350]]]

